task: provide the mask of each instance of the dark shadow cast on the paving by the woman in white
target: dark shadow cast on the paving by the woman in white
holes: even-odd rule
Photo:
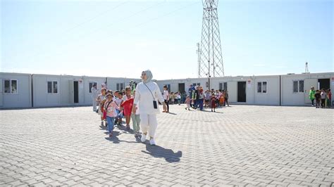
[[[146,150],[142,150],[142,153],[147,153],[153,157],[163,157],[167,162],[180,162],[182,157],[182,151],[174,153],[171,149],[162,148],[161,146],[146,145]]]

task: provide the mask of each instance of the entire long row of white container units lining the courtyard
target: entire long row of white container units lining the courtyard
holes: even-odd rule
[[[30,75],[0,72],[0,108],[92,105],[92,85],[107,84],[113,91],[123,90],[130,81],[141,79],[80,77],[70,75]],[[237,76],[194,79],[154,80],[161,92],[185,91],[190,84],[207,89],[227,90],[229,102],[247,105],[310,105],[309,90],[333,89],[334,72],[299,75]],[[333,102],[333,98],[332,101]]]

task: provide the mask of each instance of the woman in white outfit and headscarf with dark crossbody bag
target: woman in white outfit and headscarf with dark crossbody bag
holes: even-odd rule
[[[142,72],[142,82],[137,84],[135,101],[132,107],[132,113],[136,113],[136,106],[140,108],[140,127],[142,129],[141,141],[146,141],[147,132],[149,133],[149,143],[154,146],[154,135],[158,122],[156,115],[160,113],[158,101],[165,103],[161,95],[158,84],[152,82],[152,73],[150,70]]]

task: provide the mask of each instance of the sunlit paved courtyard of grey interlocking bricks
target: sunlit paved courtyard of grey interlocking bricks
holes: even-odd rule
[[[91,110],[0,110],[0,186],[333,186],[334,110],[171,105],[157,146]]]

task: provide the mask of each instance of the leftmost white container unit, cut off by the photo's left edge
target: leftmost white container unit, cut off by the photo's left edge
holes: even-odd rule
[[[31,75],[0,72],[0,108],[30,108]]]

